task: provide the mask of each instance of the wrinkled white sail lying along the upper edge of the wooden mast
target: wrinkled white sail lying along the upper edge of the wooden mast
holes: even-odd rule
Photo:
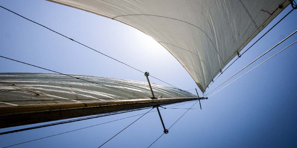
[[[91,101],[106,102],[113,100],[149,98],[147,96],[152,97],[147,82],[87,75],[72,76],[103,84],[105,86],[75,79],[66,75],[52,73],[0,73],[0,88],[1,90],[4,90],[0,91],[0,106]],[[15,85],[12,85],[12,83]],[[117,89],[108,88],[106,86]],[[156,97],[197,97],[187,91],[181,91],[168,86],[154,83],[151,83],[151,86]],[[15,89],[29,91],[8,91]],[[39,93],[40,95],[31,91]]]

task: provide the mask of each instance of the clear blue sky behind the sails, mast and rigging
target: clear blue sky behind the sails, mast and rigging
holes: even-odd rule
[[[166,49],[151,37],[128,25],[48,1],[0,1],[0,5],[142,71],[148,71],[151,75],[181,89],[198,89],[190,75]],[[267,28],[291,9],[290,6],[287,7]],[[296,15],[297,10],[294,10],[225,71],[210,90],[295,31]],[[7,10],[0,9],[0,19],[1,56],[61,73],[146,81],[142,73]],[[264,31],[268,30],[267,28]],[[260,34],[262,35],[264,31]],[[259,38],[259,35],[256,38]],[[297,35],[292,36],[240,74],[250,70],[296,39]],[[170,128],[169,133],[163,135],[152,147],[297,147],[296,48],[297,44],[291,46],[211,96],[207,101],[202,101],[202,110],[189,110]],[[7,59],[0,59],[0,72],[48,73],[48,71]],[[150,81],[165,85],[158,80]],[[188,108],[192,104],[178,107]],[[193,108],[199,108],[199,104]],[[146,111],[1,135],[0,147]],[[171,126],[185,111],[161,110],[165,126]],[[138,117],[15,147],[98,147]],[[18,128],[20,127],[0,129],[0,131]],[[162,131],[157,112],[152,112],[132,124],[104,147],[148,147],[162,134]]]

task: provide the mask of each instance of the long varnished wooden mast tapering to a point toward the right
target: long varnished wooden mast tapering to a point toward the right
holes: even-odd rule
[[[153,107],[164,104],[207,99],[204,97],[190,98],[159,98],[131,99],[97,102],[55,103],[37,105],[17,105],[0,107],[0,128],[22,126],[54,120],[97,115],[108,112]]]

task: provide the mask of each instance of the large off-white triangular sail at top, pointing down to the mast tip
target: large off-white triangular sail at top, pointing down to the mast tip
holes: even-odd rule
[[[50,1],[123,22],[148,34],[176,57],[201,91],[289,4],[287,0]]]

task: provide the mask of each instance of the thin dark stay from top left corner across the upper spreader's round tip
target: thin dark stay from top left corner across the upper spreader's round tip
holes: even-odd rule
[[[16,13],[16,12],[13,12],[13,11],[7,9],[7,8],[2,7],[2,6],[0,6],[0,7],[3,8],[3,9],[5,9],[5,10],[7,10],[7,11],[9,11],[9,12],[12,12],[12,13],[14,13],[15,15],[18,15],[18,16],[20,16],[20,17],[26,19],[26,20],[29,20],[30,22],[33,22],[33,23],[35,23],[35,24],[37,24],[37,25],[40,25],[40,26],[42,26],[42,27],[44,27],[44,28],[50,30],[50,31],[53,31],[54,33],[57,33],[57,34],[59,34],[59,35],[65,37],[65,38],[68,38],[68,39],[70,39],[70,40],[72,40],[72,41],[75,41],[75,40],[72,39],[72,38],[69,38],[69,37],[67,37],[67,36],[65,36],[65,35],[63,35],[63,34],[61,34],[61,33],[59,33],[59,32],[56,32],[56,31],[54,31],[54,30],[52,30],[52,29],[50,29],[50,28],[48,28],[48,27],[45,27],[44,25],[41,25],[41,24],[39,24],[39,23],[37,23],[37,22],[34,22],[33,20],[30,20],[30,19],[28,19],[28,18],[26,18],[26,17],[24,17],[24,16],[22,16],[22,15]],[[84,45],[84,44],[82,44],[82,43],[80,43],[80,42],[78,42],[78,41],[75,41],[75,42],[78,43],[78,44],[80,44],[80,45],[83,45],[83,46],[85,46],[85,47],[87,47],[87,48],[89,48],[89,49],[91,49],[91,50],[93,50],[93,51],[95,51],[95,52],[98,52],[98,53],[100,53],[100,54],[102,54],[102,55],[104,55],[104,56],[106,56],[106,57],[109,57],[109,58],[111,58],[111,59],[113,59],[113,60],[116,60],[117,62],[120,62],[120,63],[122,63],[122,64],[124,64],[124,65],[127,65],[127,66],[129,66],[129,67],[131,67],[131,68],[133,68],[133,69],[135,69],[135,70],[141,72],[141,73],[144,73],[143,71],[141,71],[141,70],[139,70],[139,69],[137,69],[137,68],[134,68],[134,67],[132,67],[132,66],[130,66],[130,65],[124,63],[124,62],[121,62],[121,61],[119,61],[119,60],[117,60],[117,59],[115,59],[115,58],[113,58],[113,57],[110,57],[110,56],[108,56],[108,55],[102,53],[102,52],[99,52],[99,51],[97,51],[97,50],[95,50],[95,49],[93,49],[93,48],[91,48],[91,47],[89,47],[89,46],[86,46],[86,45]],[[150,76],[151,76],[151,75],[150,75]],[[159,80],[159,81],[162,81],[162,80],[160,80],[160,79],[158,79],[158,78],[156,78],[156,77],[153,77],[153,76],[151,76],[151,77],[152,77],[152,78],[155,78],[155,79],[157,79],[157,80]],[[168,84],[168,85],[170,85],[170,86],[173,86],[173,85],[171,85],[171,84],[169,84],[169,83],[167,83],[167,82],[165,82],[165,81],[162,81],[162,82],[164,82],[164,83],[166,83],[166,84]],[[179,89],[179,88],[176,87],[176,86],[173,86],[173,87]],[[182,90],[182,89],[180,89],[180,90]]]

